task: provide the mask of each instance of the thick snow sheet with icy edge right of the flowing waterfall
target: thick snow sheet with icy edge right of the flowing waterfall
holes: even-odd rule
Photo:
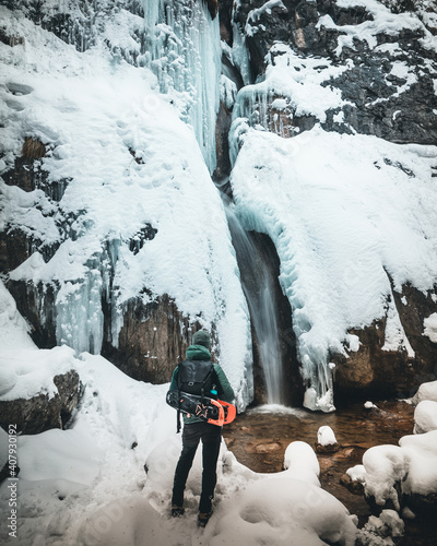
[[[282,139],[241,118],[233,122],[231,147],[235,212],[247,229],[268,234],[280,257],[308,384],[305,405],[330,411],[328,364],[347,355],[350,329],[388,316],[385,348],[404,346],[412,355],[389,275],[399,292],[406,282],[420,290],[436,283],[429,173],[437,151],[317,126]]]

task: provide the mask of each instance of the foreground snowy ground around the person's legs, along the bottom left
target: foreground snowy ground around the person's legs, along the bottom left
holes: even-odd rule
[[[284,472],[257,474],[223,441],[214,514],[204,531],[196,526],[199,450],[187,483],[186,515],[170,519],[181,442],[175,412],[165,403],[168,384],[135,381],[90,354],[75,359],[75,368],[85,391],[72,428],[17,439],[20,518],[13,544],[139,546],[149,537],[168,546],[355,543],[356,518],[320,488],[317,456],[304,442],[288,446]],[[4,510],[7,485],[0,487]],[[0,539],[12,544],[4,526]]]

